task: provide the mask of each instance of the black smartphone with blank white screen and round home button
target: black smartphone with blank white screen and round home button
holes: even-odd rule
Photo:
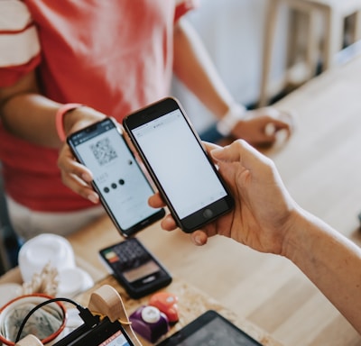
[[[181,230],[193,232],[232,209],[233,198],[178,101],[162,99],[123,124]]]

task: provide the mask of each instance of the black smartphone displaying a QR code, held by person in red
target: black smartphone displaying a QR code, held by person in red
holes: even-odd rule
[[[165,215],[162,208],[148,205],[153,187],[115,121],[106,118],[74,132],[67,141],[79,162],[92,171],[93,187],[125,237]]]

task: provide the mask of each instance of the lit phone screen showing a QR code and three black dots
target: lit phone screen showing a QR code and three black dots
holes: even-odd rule
[[[116,223],[127,230],[156,212],[148,205],[153,189],[116,127],[103,126],[97,135],[79,139],[75,148],[92,171],[99,193]]]

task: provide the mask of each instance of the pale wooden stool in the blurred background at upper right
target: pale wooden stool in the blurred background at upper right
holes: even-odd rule
[[[289,46],[293,45],[293,49],[289,47],[287,52],[287,61],[289,66],[284,72],[281,86],[271,90],[271,66],[273,56],[273,42],[275,40],[275,32],[278,14],[286,6],[296,14],[303,14],[307,20],[306,32],[301,35],[306,41],[305,58],[302,64],[299,64],[298,71],[301,70],[301,77],[298,77],[296,83],[301,84],[314,76],[319,62],[322,61],[321,71],[332,68],[336,53],[342,49],[344,38],[345,20],[352,16],[353,25],[351,28],[350,43],[361,39],[361,0],[268,0],[268,11],[264,32],[264,55],[262,66],[262,80],[260,87],[259,106],[268,105],[271,96],[280,91],[282,87],[292,81],[292,72],[296,71],[297,65],[292,65],[292,55],[294,53],[297,38],[300,32],[297,32],[297,25],[290,23]],[[319,19],[322,19],[319,21]],[[318,24],[322,23],[322,40],[319,44],[317,35]],[[301,68],[300,68],[301,67]],[[296,78],[297,79],[297,78]]]

